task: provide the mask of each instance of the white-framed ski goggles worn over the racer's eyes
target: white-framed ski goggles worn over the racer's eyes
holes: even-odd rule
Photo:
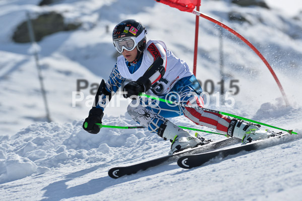
[[[122,53],[124,49],[132,51],[144,37],[145,33],[143,31],[138,37],[127,37],[120,40],[114,40],[113,45],[119,53]]]

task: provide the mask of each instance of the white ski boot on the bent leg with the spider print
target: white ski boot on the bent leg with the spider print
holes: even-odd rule
[[[169,120],[166,120],[163,124],[161,124],[158,130],[158,135],[164,140],[170,140],[172,142],[169,155],[203,144],[201,140],[190,136],[189,132],[178,127],[177,125],[174,125]]]

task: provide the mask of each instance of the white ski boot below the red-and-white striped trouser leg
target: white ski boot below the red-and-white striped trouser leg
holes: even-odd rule
[[[266,130],[260,130],[259,128],[259,124],[247,123],[243,120],[233,118],[228,126],[227,135],[241,139],[242,144],[247,144],[254,140],[266,139],[271,136],[271,133]]]

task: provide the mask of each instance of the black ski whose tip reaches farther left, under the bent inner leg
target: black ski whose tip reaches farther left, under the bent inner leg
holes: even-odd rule
[[[117,178],[125,176],[125,175],[135,174],[140,170],[146,170],[148,168],[155,167],[155,166],[164,164],[166,162],[175,161],[179,157],[184,156],[186,154],[188,155],[188,154],[195,154],[195,153],[203,153],[206,151],[216,150],[218,148],[227,147],[227,146],[235,145],[238,143],[240,143],[240,140],[236,139],[236,138],[228,138],[228,139],[223,139],[223,140],[219,140],[219,141],[210,141],[210,140],[207,141],[206,140],[206,141],[204,141],[204,144],[202,144],[198,147],[186,149],[186,150],[174,153],[173,155],[163,156],[160,158],[156,158],[153,160],[145,161],[145,162],[130,165],[130,166],[113,167],[113,168],[109,169],[108,175],[111,178],[117,179]]]

